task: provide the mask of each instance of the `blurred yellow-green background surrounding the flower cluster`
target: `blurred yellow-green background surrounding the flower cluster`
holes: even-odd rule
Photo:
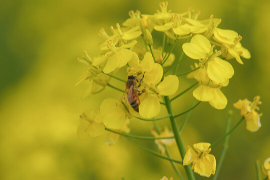
[[[77,62],[83,50],[98,54],[100,27],[122,23],[128,11],[154,13],[155,0],[10,0],[0,6],[0,178],[1,179],[178,179],[169,161],[159,159],[121,138],[105,143],[106,134],[81,141],[76,136],[79,114],[99,107],[105,97],[121,93],[107,87],[102,93],[82,99],[87,83],[74,87],[84,66]],[[249,132],[242,123],[230,136],[229,149],[218,179],[255,179],[255,159],[270,155],[270,1],[269,0],[169,0],[169,9],[201,10],[199,18],[220,17],[221,28],[237,31],[251,52],[244,65],[235,60],[235,75],[222,88],[228,98],[224,110],[201,103],[193,110],[183,130],[185,146],[213,142],[223,134],[226,114],[239,98],[260,95],[262,127]],[[177,44],[176,49],[180,45]],[[175,52],[179,56],[179,52]],[[179,71],[185,71],[184,61]],[[119,72],[117,75],[122,75]],[[124,78],[124,77],[123,77]],[[180,78],[179,91],[192,80]],[[124,84],[123,88],[125,87]],[[109,93],[110,92],[110,93]],[[173,105],[176,112],[192,103],[191,91]],[[236,109],[235,123],[240,115]],[[165,114],[165,110],[162,109]],[[179,123],[184,117],[179,118]],[[166,125],[168,120],[159,124]],[[150,135],[152,124],[138,119],[130,123],[132,134]],[[170,125],[168,124],[169,128]],[[141,141],[158,150],[154,142]],[[212,153],[219,159],[222,144]],[[169,148],[180,158],[176,145]],[[183,168],[179,166],[184,172]],[[197,179],[206,179],[196,174]]]

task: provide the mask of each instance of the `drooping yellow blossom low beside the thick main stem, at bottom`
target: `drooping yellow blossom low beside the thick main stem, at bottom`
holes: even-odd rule
[[[183,159],[183,165],[192,163],[191,169],[201,176],[209,177],[215,174],[216,160],[215,156],[209,154],[211,151],[210,143],[200,142],[193,144],[193,148],[188,146]]]

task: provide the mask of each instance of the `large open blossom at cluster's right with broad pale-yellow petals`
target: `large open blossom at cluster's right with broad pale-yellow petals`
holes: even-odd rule
[[[214,108],[223,109],[227,98],[220,88],[228,84],[234,70],[229,62],[217,57],[220,51],[213,54],[212,48],[210,41],[201,34],[194,35],[190,42],[183,44],[185,54],[199,60],[197,66],[200,68],[192,72],[199,81],[193,96],[200,101],[208,101]]]

